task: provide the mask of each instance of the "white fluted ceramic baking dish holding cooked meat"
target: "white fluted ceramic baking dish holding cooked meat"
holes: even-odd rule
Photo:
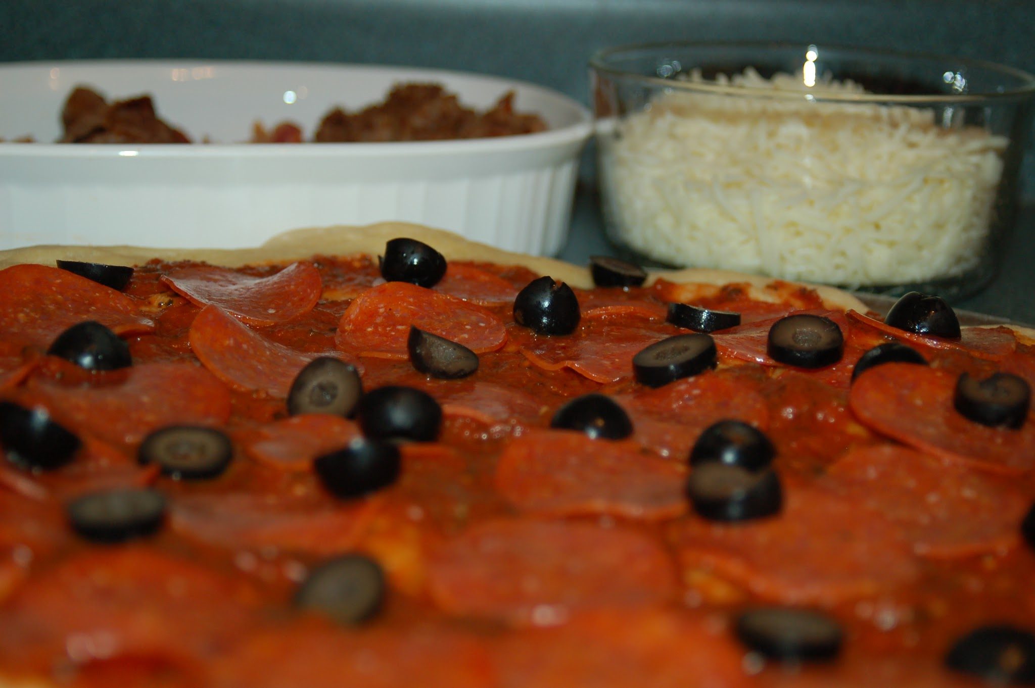
[[[435,82],[463,104],[515,92],[540,133],[415,143],[256,145],[254,122],[312,136],[332,107]],[[197,145],[56,144],[77,85],[109,99],[150,94]],[[0,67],[0,248],[40,243],[254,246],[284,230],[407,220],[549,255],[564,243],[588,111],[532,84],[391,66],[100,61]]]

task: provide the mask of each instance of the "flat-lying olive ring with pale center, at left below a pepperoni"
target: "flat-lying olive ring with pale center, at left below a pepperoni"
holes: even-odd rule
[[[157,463],[161,473],[184,480],[205,480],[223,474],[234,456],[234,445],[214,427],[172,425],[144,438],[137,458]]]

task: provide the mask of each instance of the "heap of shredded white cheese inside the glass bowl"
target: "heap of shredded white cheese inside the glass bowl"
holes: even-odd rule
[[[864,92],[750,69],[718,81],[814,97]],[[613,231],[663,263],[789,279],[865,286],[964,273],[984,250],[1007,140],[935,116],[667,93],[601,138]]]

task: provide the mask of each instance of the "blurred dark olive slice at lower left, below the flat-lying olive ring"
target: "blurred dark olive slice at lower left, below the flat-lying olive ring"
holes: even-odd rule
[[[166,498],[153,489],[119,487],[77,498],[66,508],[72,530],[93,542],[116,543],[155,533]]]

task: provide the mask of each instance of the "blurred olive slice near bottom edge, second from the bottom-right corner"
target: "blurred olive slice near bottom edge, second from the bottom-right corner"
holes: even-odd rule
[[[737,617],[734,630],[747,648],[785,661],[833,659],[845,640],[836,620],[820,611],[792,607],[747,609]]]

